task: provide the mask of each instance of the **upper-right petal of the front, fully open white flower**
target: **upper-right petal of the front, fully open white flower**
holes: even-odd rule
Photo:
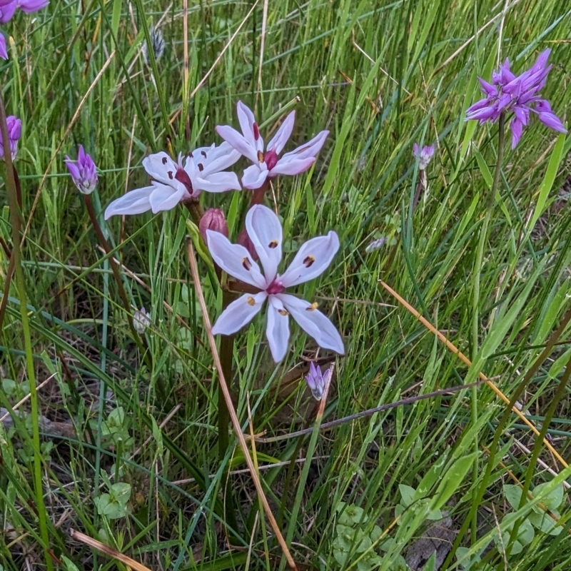
[[[328,267],[339,249],[337,233],[330,231],[327,236],[318,236],[305,242],[295,254],[289,268],[280,276],[285,288],[313,280]]]

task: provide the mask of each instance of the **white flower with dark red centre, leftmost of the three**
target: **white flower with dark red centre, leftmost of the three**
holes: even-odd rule
[[[228,145],[197,148],[178,162],[166,153],[155,153],[143,158],[143,167],[153,178],[151,186],[138,188],[117,198],[105,210],[105,219],[121,214],[153,214],[171,210],[179,202],[198,198],[202,191],[226,192],[241,189],[235,173],[221,172],[233,165],[240,153]]]

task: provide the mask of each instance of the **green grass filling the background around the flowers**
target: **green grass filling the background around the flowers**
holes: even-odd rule
[[[497,126],[463,121],[465,108],[478,97],[477,75],[489,76],[506,56],[521,71],[550,47],[553,69],[545,96],[565,123],[570,6],[557,0],[284,0],[268,3],[265,27],[263,8],[263,2],[201,2],[185,16],[180,4],[161,11],[153,1],[52,0],[46,10],[19,14],[4,26],[14,40],[9,61],[0,65],[2,93],[6,111],[23,123],[16,167],[28,225],[22,266],[36,379],[26,373],[21,295],[13,284],[1,326],[0,405],[10,410],[29,392],[29,383],[49,379],[31,398],[33,405],[37,398],[39,413],[31,414],[29,403],[21,405],[29,414],[11,415],[0,433],[0,561],[6,570],[57,567],[46,547],[79,569],[126,568],[71,540],[71,529],[152,569],[242,568],[246,559],[249,568],[273,569],[281,558],[259,517],[250,477],[228,475],[245,468],[239,449],[218,460],[216,377],[188,269],[185,213],[177,209],[124,223],[113,218],[106,225],[133,308],[151,310],[149,370],[66,173],[65,155],[76,156],[79,143],[98,165],[93,198],[102,210],[146,183],[141,159],[166,148],[167,137],[176,152],[219,141],[214,127],[236,124],[238,99],[255,108],[261,123],[269,120],[266,133],[275,131],[281,108],[291,103],[297,113],[293,143],[330,129],[313,171],[274,181],[289,251],[330,229],[340,236],[330,271],[298,288],[320,302],[345,338],[325,420],[477,376],[400,308],[380,279],[475,357],[508,398],[570,306],[571,215],[566,198],[558,195],[569,174],[565,159],[547,188],[546,205],[537,211],[546,213],[535,228],[529,221],[546,173],[557,170],[557,161],[547,168],[554,148],[566,156],[571,143],[561,139],[555,147],[556,134],[532,121],[518,148],[507,150],[478,267]],[[166,53],[147,66],[141,55],[145,30],[157,24]],[[413,211],[415,141],[437,141],[437,151],[428,171],[430,190]],[[203,198],[228,214],[244,211],[245,195]],[[6,196],[3,186],[3,206]],[[233,236],[239,229],[236,221]],[[0,236],[11,243],[7,206]],[[365,246],[380,236],[394,237],[395,245],[366,254]],[[9,261],[4,252],[0,256],[4,283]],[[208,280],[203,288],[213,318],[221,300]],[[512,308],[517,310],[510,313]],[[236,341],[238,415],[247,423],[249,401],[255,433],[287,434],[308,422],[300,376],[303,358],[315,355],[313,345],[295,333],[292,350],[276,369],[262,323],[255,323]],[[567,343],[569,333],[560,341]],[[539,426],[566,370],[565,343],[532,375],[519,401]],[[286,388],[292,381],[293,390]],[[549,432],[568,458],[569,393],[564,394],[555,403]],[[510,554],[508,545],[503,555],[495,547],[482,552],[498,527],[507,527],[502,516],[514,512],[502,485],[517,480],[533,489],[562,470],[545,450],[537,448],[539,462],[531,458],[535,439],[512,415],[498,443],[504,447],[502,465],[496,463],[484,478],[486,450],[504,410],[480,386],[343,423],[323,433],[315,449],[297,438],[258,444],[261,465],[305,459],[289,474],[287,465],[261,472],[295,560],[308,566],[303,568],[370,568],[357,562],[357,547],[345,565],[333,556],[339,542],[336,510],[344,501],[365,510],[365,532],[378,525],[395,538],[377,567],[397,568],[396,555],[404,555],[430,524],[422,510],[416,518],[408,510],[412,515],[395,525],[399,485],[418,487],[439,458],[461,459],[479,450],[476,460],[466,460],[470,470],[455,482],[443,508],[454,532],[468,518],[471,529],[462,529],[458,543],[485,560],[473,568],[567,569],[567,529],[557,537],[536,532],[525,557]],[[41,432],[41,470],[39,450],[34,465],[34,430]],[[450,462],[442,473],[448,468]],[[561,472],[560,480],[568,476]],[[96,502],[113,482],[130,484],[131,497],[128,515],[110,520],[98,514]],[[473,506],[480,487],[485,493]],[[232,503],[233,521],[226,509]],[[569,508],[565,499],[559,511],[567,527]],[[519,523],[525,509],[517,515]],[[221,525],[226,520],[236,527],[231,553]],[[467,558],[459,563],[460,553],[450,553],[450,568],[466,565]]]

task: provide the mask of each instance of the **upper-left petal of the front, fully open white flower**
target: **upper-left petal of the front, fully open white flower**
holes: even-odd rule
[[[206,231],[206,241],[213,260],[223,271],[261,290],[266,289],[266,280],[258,264],[240,244],[233,244],[220,232]]]

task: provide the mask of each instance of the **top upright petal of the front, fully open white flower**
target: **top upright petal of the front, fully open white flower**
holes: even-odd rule
[[[246,231],[263,268],[266,283],[273,282],[281,261],[283,241],[280,219],[271,208],[256,204],[246,214]]]

